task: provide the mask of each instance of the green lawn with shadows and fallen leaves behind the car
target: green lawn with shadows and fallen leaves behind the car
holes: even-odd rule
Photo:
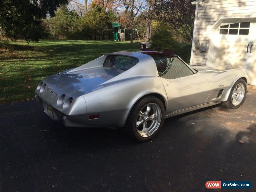
[[[29,100],[44,77],[115,51],[139,50],[129,41],[0,41],[0,103]]]

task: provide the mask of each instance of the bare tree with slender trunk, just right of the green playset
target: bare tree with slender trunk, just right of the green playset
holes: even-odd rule
[[[129,25],[131,28],[131,44],[133,43],[133,21],[135,17],[147,9],[147,1],[145,0],[123,0],[125,12],[129,13]]]

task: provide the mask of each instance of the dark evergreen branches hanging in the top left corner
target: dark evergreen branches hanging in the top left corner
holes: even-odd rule
[[[24,38],[38,41],[42,34],[42,19],[55,11],[68,0],[1,0],[0,31],[1,35],[16,40]]]

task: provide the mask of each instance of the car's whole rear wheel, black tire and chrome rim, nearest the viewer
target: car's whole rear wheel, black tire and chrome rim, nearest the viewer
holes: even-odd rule
[[[165,109],[161,100],[148,96],[132,108],[125,124],[128,135],[138,141],[151,140],[164,124]]]

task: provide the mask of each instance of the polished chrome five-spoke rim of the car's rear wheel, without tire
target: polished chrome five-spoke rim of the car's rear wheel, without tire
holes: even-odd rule
[[[162,118],[160,107],[155,103],[145,105],[136,120],[137,132],[141,137],[149,137],[158,129]]]

